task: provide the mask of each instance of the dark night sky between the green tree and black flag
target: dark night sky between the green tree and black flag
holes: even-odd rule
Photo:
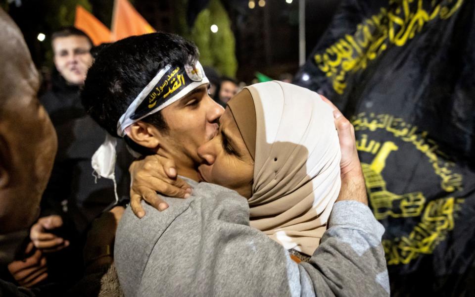
[[[256,0],[257,2],[257,0]],[[306,0],[306,54],[317,44],[328,27],[340,0]],[[250,82],[255,71],[279,79],[298,69],[298,0],[267,0],[265,7],[242,14],[230,11],[236,36],[238,79]]]

